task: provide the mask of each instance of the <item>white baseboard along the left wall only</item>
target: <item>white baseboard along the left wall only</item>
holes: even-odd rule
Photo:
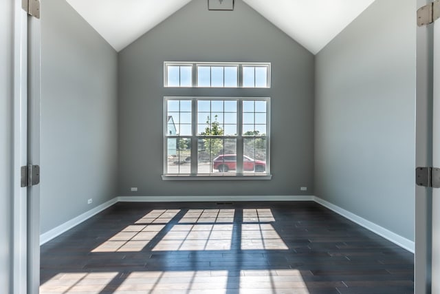
[[[113,198],[107,202],[100,204],[99,206],[95,207],[94,209],[86,211],[85,213],[81,214],[80,216],[77,216],[76,218],[73,218],[72,220],[68,220],[64,224],[61,224],[58,227],[41,234],[40,235],[40,246],[49,242],[50,240],[58,237],[58,235],[61,235],[65,231],[72,229],[73,227],[80,224],[81,222],[84,222],[85,220],[88,220],[92,216],[95,216],[96,214],[100,213],[104,209],[111,207],[111,205],[115,204],[116,202],[118,202],[118,198]]]

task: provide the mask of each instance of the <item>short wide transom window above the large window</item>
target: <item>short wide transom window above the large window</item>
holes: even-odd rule
[[[270,63],[165,62],[164,87],[270,88]]]

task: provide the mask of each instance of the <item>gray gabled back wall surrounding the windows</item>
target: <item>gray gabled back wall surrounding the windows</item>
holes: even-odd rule
[[[191,1],[118,57],[121,196],[313,193],[314,56],[243,1],[235,1],[232,12]],[[272,89],[164,89],[164,61],[271,62]],[[203,95],[272,97],[272,180],[162,181],[163,98]]]

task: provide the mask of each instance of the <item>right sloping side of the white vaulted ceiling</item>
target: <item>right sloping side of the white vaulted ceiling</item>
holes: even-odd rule
[[[313,54],[375,0],[243,0]]]

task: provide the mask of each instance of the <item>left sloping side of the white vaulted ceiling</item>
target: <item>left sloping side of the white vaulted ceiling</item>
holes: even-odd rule
[[[120,51],[191,0],[67,0]]]

